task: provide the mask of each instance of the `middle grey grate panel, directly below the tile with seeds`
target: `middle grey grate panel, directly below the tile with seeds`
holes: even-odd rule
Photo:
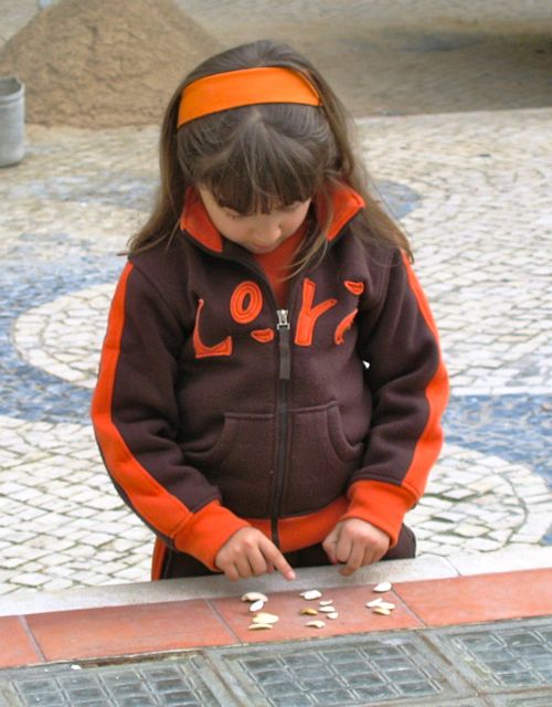
[[[221,650],[211,657],[226,679],[234,677],[243,704],[250,697],[270,707],[453,705],[470,692],[415,632]],[[471,704],[478,703],[461,703]]]

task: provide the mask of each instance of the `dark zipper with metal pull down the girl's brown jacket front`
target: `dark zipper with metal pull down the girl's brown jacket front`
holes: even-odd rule
[[[270,514],[270,534],[274,545],[279,548],[278,517],[282,505],[282,493],[284,489],[284,476],[287,461],[287,435],[288,435],[288,389],[291,374],[291,351],[290,351],[290,325],[289,310],[277,309],[278,320],[276,329],[278,331],[278,400],[276,419],[278,424],[278,443],[276,449],[276,477],[274,479],[274,502]]]

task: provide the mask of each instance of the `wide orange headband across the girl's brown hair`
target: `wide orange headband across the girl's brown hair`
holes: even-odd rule
[[[240,68],[198,78],[189,84],[182,92],[177,127],[210,113],[258,103],[322,105],[310,82],[291,68]]]

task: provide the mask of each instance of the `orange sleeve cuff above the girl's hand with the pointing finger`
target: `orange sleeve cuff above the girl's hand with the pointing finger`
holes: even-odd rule
[[[212,500],[179,528],[174,537],[174,546],[181,552],[188,552],[203,562],[211,571],[217,572],[214,563],[216,553],[226,540],[250,524],[242,520],[219,500]]]

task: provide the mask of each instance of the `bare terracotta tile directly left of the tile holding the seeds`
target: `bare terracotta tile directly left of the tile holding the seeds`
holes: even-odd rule
[[[35,614],[28,623],[46,661],[236,643],[203,600]]]

